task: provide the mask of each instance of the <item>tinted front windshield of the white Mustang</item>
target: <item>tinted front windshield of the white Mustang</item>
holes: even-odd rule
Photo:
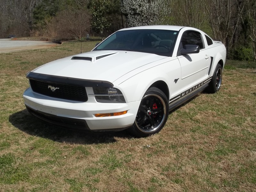
[[[172,56],[178,31],[159,29],[134,29],[117,31],[93,51],[121,50]]]

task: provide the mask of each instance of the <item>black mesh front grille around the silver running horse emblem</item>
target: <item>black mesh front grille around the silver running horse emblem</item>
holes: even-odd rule
[[[67,99],[74,101],[85,102],[88,100],[85,87],[68,85],[68,84],[54,84],[43,81],[29,80],[32,90],[36,93],[46,95],[49,97]],[[51,87],[55,87],[55,91],[51,90]]]

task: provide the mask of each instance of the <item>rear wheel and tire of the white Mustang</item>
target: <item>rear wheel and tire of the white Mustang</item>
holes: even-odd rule
[[[220,85],[222,81],[222,67],[218,63],[215,71],[212,76],[212,80],[209,83],[209,86],[206,89],[206,92],[208,93],[216,93],[217,91],[220,90]]]

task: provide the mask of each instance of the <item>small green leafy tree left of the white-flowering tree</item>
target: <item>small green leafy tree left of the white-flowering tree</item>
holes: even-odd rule
[[[93,0],[91,6],[92,29],[99,32],[103,41],[103,30],[111,25],[109,17],[114,5],[110,0]]]

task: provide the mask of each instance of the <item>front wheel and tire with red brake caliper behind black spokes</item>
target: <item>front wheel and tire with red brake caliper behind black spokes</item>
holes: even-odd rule
[[[134,124],[130,128],[136,137],[147,137],[158,133],[167,121],[168,99],[156,87],[149,88],[141,99]]]

